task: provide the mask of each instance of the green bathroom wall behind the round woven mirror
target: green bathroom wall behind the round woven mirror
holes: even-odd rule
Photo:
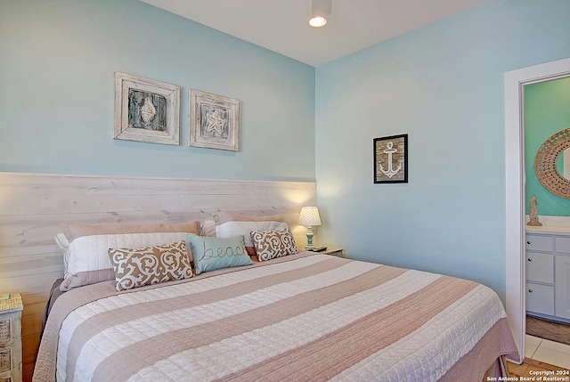
[[[538,199],[540,215],[570,216],[570,199],[561,198],[539,182],[534,157],[550,135],[570,127],[570,77],[525,85],[526,214],[530,198]]]

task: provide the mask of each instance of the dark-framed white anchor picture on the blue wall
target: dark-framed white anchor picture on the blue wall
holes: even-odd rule
[[[374,138],[374,183],[408,183],[408,134]]]

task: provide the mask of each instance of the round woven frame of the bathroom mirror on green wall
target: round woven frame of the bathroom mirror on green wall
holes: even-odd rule
[[[570,181],[558,172],[558,156],[570,148],[570,127],[560,130],[542,143],[534,158],[534,173],[548,191],[570,199]]]

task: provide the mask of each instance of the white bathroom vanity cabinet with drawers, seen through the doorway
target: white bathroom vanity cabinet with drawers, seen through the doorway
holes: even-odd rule
[[[570,320],[570,231],[526,231],[526,311]]]

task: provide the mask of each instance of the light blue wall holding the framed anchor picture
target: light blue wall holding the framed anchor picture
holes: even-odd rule
[[[570,2],[490,0],[317,68],[319,240],[505,296],[504,73],[570,57]],[[409,183],[372,140],[409,134]]]

